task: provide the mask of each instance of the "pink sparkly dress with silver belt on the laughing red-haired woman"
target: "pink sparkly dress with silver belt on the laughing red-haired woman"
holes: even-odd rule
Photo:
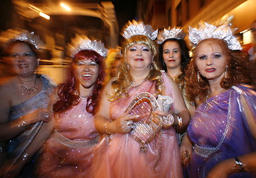
[[[55,130],[42,150],[38,177],[91,177],[99,133],[86,103],[87,99],[82,99],[56,118]]]

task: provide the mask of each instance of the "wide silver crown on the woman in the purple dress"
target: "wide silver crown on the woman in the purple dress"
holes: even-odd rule
[[[191,43],[196,45],[203,39],[223,39],[228,44],[230,50],[243,49],[237,38],[233,35],[229,24],[223,24],[219,27],[216,27],[205,22],[204,25],[198,29],[189,27],[188,33],[188,39],[191,41]]]

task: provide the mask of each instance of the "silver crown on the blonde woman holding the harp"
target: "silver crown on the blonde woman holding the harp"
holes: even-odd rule
[[[154,40],[157,38],[158,30],[153,30],[151,25],[143,24],[143,22],[137,22],[133,20],[132,22],[128,22],[122,32],[122,36],[125,39],[131,38],[131,36],[136,35],[145,35],[148,36],[150,39]]]

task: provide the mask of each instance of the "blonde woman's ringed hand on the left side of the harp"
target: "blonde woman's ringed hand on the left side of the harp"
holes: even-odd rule
[[[140,115],[132,114],[131,111],[126,111],[116,120],[111,122],[114,125],[115,133],[129,133],[132,131],[133,120],[140,117]]]

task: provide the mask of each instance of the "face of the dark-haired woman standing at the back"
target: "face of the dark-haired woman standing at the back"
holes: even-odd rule
[[[163,44],[163,60],[167,68],[180,67],[181,50],[177,42],[165,42]]]

